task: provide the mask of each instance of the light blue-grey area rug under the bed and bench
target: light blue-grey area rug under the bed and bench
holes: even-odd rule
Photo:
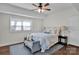
[[[41,51],[31,53],[31,51],[28,48],[26,48],[23,44],[17,44],[10,46],[10,55],[50,55],[51,52],[54,53],[55,51],[58,51],[62,47],[63,45],[57,44],[43,53]]]

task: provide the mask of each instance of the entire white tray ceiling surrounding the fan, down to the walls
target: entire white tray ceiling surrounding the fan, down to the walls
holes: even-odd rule
[[[36,3],[36,5],[38,4]],[[2,6],[5,6],[6,10],[4,10]],[[18,13],[20,12],[21,14],[24,14],[25,16],[27,15],[27,16],[32,16],[32,17],[39,17],[39,18],[44,17],[45,18],[51,14],[62,12],[65,10],[70,10],[70,9],[75,9],[79,12],[79,3],[50,3],[48,8],[50,8],[51,11],[46,11],[44,13],[38,13],[37,11],[33,11],[33,9],[36,9],[36,7],[34,7],[32,3],[6,3],[3,5],[0,4],[0,10],[1,9],[3,9],[4,11],[8,10],[9,12],[9,10],[11,9],[10,11],[12,11],[13,13],[17,11]]]

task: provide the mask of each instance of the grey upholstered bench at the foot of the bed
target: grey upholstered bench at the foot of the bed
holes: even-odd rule
[[[28,42],[28,43],[27,43]],[[27,44],[26,44],[27,43]],[[31,44],[33,44],[31,46]],[[41,50],[41,46],[40,46],[40,42],[39,41],[28,41],[26,40],[26,38],[24,39],[24,46],[28,47],[32,53],[37,52],[39,50]],[[29,47],[31,46],[31,47]]]

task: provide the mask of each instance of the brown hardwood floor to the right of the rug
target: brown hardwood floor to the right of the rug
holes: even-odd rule
[[[79,47],[68,45],[63,47],[51,55],[79,55]]]

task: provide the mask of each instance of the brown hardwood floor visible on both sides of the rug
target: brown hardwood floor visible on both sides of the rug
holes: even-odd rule
[[[0,47],[0,55],[9,55],[10,50],[9,46]],[[63,47],[56,51],[55,53],[51,53],[51,55],[79,55],[79,47],[68,45],[66,48]]]

